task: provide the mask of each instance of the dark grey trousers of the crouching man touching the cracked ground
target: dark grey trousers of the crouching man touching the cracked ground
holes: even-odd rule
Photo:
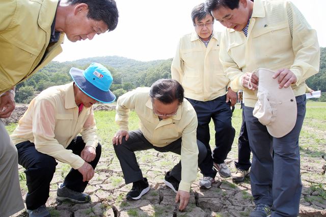
[[[207,150],[205,145],[199,140],[197,140],[197,145],[199,149],[199,165],[205,159]],[[145,139],[142,131],[129,131],[128,141],[125,141],[125,138],[123,138],[122,144],[114,145],[114,150],[120,161],[121,169],[126,184],[143,179],[143,174],[141,169],[139,168],[134,152],[148,149],[155,149],[159,152],[173,152],[180,155],[181,138],[174,141],[173,143],[170,143],[165,147],[156,147]],[[181,181],[181,161],[179,161],[178,164],[174,166],[174,168],[170,172],[170,175],[172,175],[177,180]]]

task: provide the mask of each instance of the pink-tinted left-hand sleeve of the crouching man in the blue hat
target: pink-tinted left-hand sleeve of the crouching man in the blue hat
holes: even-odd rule
[[[56,108],[47,99],[37,99],[33,108],[33,135],[35,148],[41,153],[47,154],[57,160],[69,164],[78,169],[83,166],[84,160],[65,149],[55,139]]]

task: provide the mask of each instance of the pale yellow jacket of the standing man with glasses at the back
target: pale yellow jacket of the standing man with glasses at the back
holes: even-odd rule
[[[171,75],[187,98],[209,101],[226,94],[229,79],[219,61],[221,33],[213,32],[207,48],[196,32],[183,36],[171,65]]]

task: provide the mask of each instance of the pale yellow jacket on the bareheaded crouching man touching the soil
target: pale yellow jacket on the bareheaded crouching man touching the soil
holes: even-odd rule
[[[116,106],[116,123],[120,130],[128,131],[129,111],[134,109],[140,119],[140,130],[153,146],[164,147],[182,138],[182,171],[179,189],[189,192],[198,169],[196,112],[193,106],[184,99],[175,116],[159,121],[153,112],[149,91],[150,88],[137,88],[120,96]]]

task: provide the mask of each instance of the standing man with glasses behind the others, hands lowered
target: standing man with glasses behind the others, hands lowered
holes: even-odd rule
[[[180,39],[171,66],[172,78],[184,88],[184,95],[194,106],[198,118],[197,139],[207,149],[206,159],[199,165],[203,173],[201,188],[210,188],[216,170],[222,177],[231,176],[225,159],[231,150],[235,130],[231,124],[230,106],[236,103],[236,93],[228,88],[229,79],[219,62],[220,33],[213,32],[214,19],[205,11],[204,3],[192,11],[195,32]],[[209,146],[209,122],[215,126],[215,148]]]

